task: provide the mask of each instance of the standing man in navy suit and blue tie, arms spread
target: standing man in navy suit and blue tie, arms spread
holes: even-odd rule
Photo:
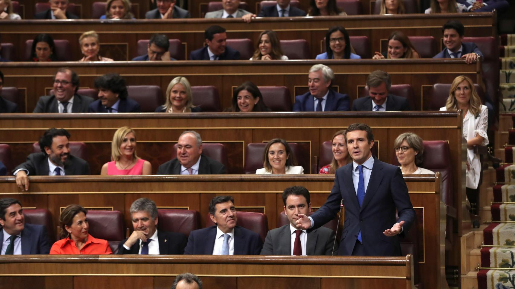
[[[401,169],[372,157],[374,136],[368,125],[349,125],[345,140],[353,162],[336,170],[325,204],[310,217],[299,214],[297,227],[322,226],[336,216],[341,202],[345,222],[338,255],[400,256],[398,235],[415,220]]]

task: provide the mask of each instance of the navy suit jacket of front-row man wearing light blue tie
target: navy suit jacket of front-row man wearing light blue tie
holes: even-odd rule
[[[184,255],[213,255],[216,225],[190,233]],[[258,233],[244,227],[234,227],[234,255],[259,255],[263,242]]]

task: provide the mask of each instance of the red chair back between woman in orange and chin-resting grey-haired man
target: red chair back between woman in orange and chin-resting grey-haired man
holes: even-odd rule
[[[107,240],[113,254],[116,254],[118,244],[125,239],[122,213],[116,210],[89,210],[87,217],[90,223],[90,235]]]

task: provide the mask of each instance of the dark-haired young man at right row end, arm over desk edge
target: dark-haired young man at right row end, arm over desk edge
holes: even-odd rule
[[[442,33],[445,48],[433,58],[463,58],[466,63],[471,64],[483,57],[477,45],[463,42],[465,27],[461,22],[449,20],[442,26]]]

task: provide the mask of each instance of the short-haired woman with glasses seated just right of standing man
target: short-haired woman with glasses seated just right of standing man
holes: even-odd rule
[[[393,143],[393,147],[403,174],[435,174],[431,170],[419,167],[424,160],[424,146],[417,134],[401,133]]]

